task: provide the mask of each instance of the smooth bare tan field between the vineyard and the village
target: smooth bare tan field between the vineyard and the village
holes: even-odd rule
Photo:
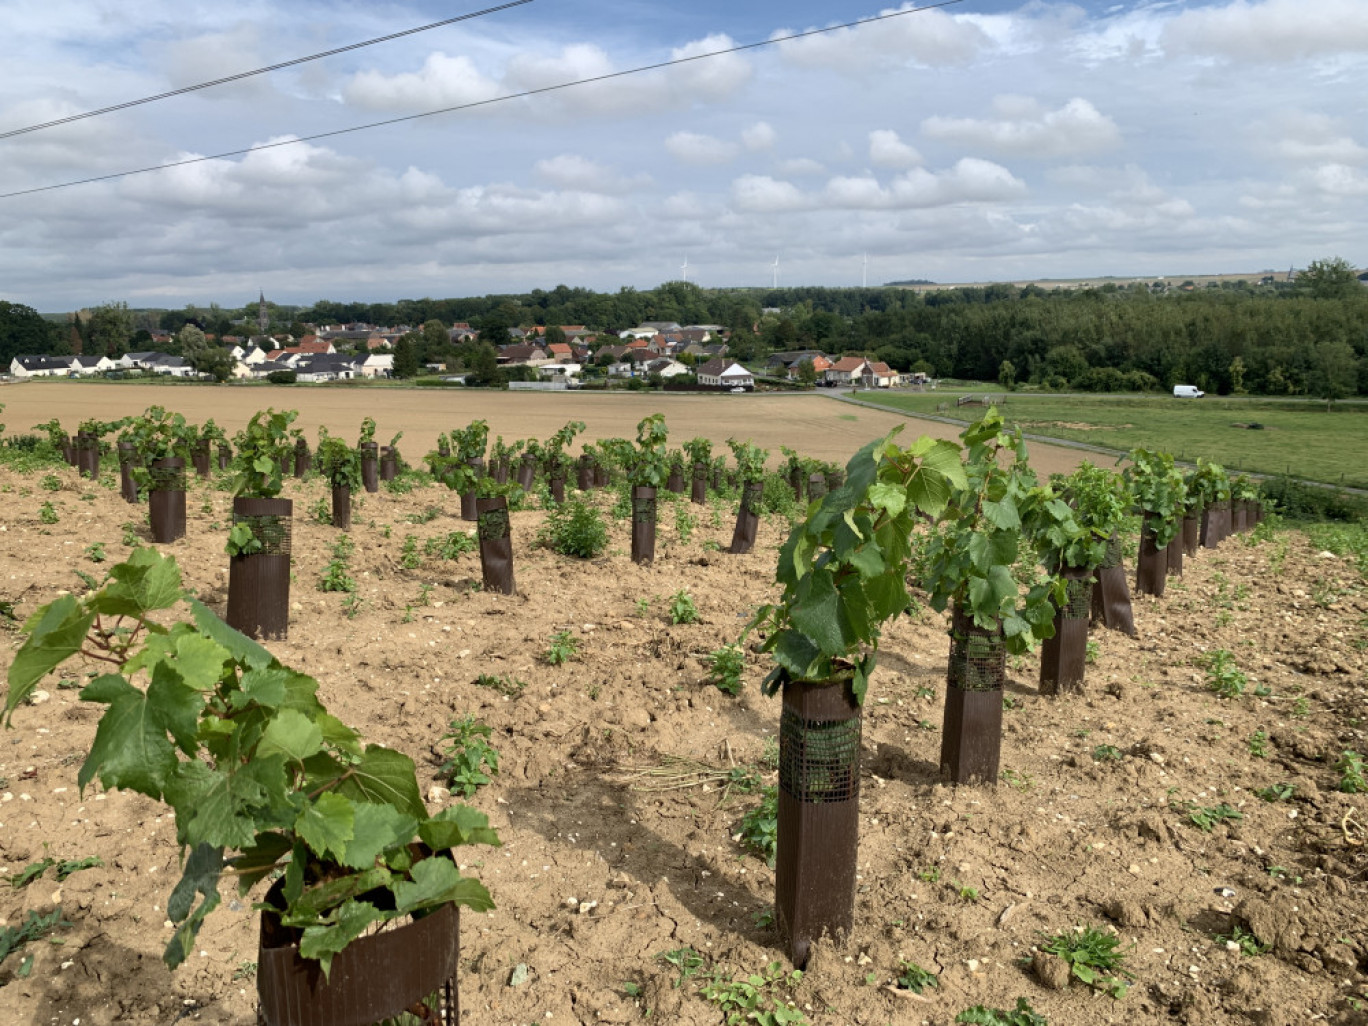
[[[843,466],[871,438],[906,424],[906,434],[958,438],[953,424],[904,417],[900,413],[836,402],[825,393],[806,395],[670,395],[650,393],[506,393],[465,389],[389,389],[324,386],[205,386],[205,384],[101,384],[94,382],[26,382],[0,389],[8,432],[21,434],[57,417],[75,431],[92,417],[118,420],[157,404],[179,410],[201,424],[213,417],[228,435],[241,430],[259,409],[294,409],[295,427],[313,442],[319,425],[335,435],[356,438],[361,417],[378,423],[382,443],[404,431],[399,447],[410,460],[436,447],[436,436],[472,420],[487,420],[490,440],[497,435],[550,438],[570,420],[586,423],[584,442],[601,438],[635,438],[636,424],[651,413],[663,413],[670,440],[679,446],[695,436],[722,446],[728,438],[748,438],[769,449],[772,464],[787,445],[815,460]],[[725,447],[722,449],[725,451]],[[1042,475],[1067,473],[1082,458],[1063,446],[1034,445],[1036,466]]]

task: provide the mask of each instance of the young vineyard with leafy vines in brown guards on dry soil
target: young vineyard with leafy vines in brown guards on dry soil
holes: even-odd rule
[[[164,410],[41,427],[0,450],[5,1022],[256,1022],[268,882],[309,958],[390,914],[347,933],[358,891],[304,907],[328,878],[289,866],[337,863],[417,925],[461,906],[472,1023],[1368,1023],[1358,525],[1291,529],[1249,482],[1145,450],[1037,479],[992,413],[963,449],[836,462],[663,417],[510,443],[473,421],[425,453],[399,423],[309,439],[274,410],[231,438]],[[157,514],[164,491],[183,506]],[[235,606],[253,558],[283,570]],[[153,681],[156,729],[116,717],[142,700],[118,673]],[[818,709],[837,694],[844,720]],[[854,751],[813,755],[836,722]],[[244,766],[330,781],[286,818],[265,770],[234,791],[254,847],[187,782],[224,772],[228,732]],[[164,780],[134,743],[166,746]],[[380,752],[412,796],[357,784],[404,777]],[[368,859],[356,808],[371,836],[390,817]],[[205,876],[204,845],[250,858]]]

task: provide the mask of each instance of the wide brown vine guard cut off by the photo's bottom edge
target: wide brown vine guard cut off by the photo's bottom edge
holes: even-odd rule
[[[283,904],[283,882],[267,902]],[[259,1023],[371,1026],[406,1019],[416,1026],[460,1026],[457,989],[461,910],[449,904],[421,919],[360,937],[332,956],[327,977],[300,956],[298,930],[261,912],[257,945]]]

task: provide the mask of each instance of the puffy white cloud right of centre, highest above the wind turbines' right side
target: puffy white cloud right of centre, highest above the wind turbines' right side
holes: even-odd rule
[[[1057,111],[1042,111],[1033,100],[997,97],[996,120],[933,116],[922,131],[941,142],[996,153],[1048,160],[1114,149],[1122,137],[1116,123],[1088,100],[1074,98]]]

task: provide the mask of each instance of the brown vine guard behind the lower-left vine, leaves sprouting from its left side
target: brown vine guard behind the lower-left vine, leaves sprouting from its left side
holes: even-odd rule
[[[233,523],[246,524],[261,551],[228,560],[228,627],[267,640],[290,635],[291,499],[233,499]]]

